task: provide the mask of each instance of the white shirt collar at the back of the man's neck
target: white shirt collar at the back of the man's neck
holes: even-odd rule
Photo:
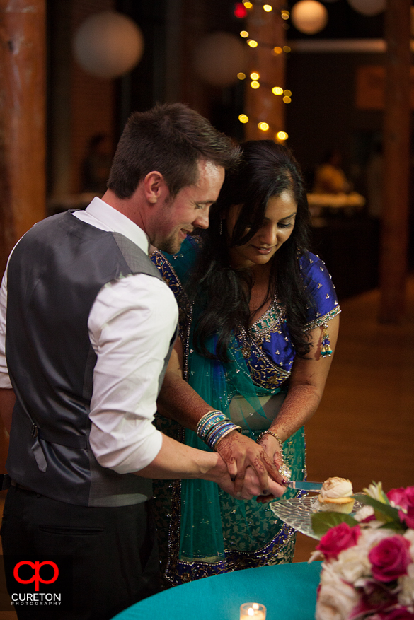
[[[149,254],[149,238],[142,228],[139,228],[130,218],[120,213],[98,197],[95,197],[86,209],[88,216],[97,220],[103,226],[108,227],[114,233],[125,235],[137,245],[146,255]],[[98,226],[100,228],[100,226]]]

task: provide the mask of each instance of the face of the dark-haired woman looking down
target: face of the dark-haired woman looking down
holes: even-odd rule
[[[233,205],[226,216],[229,239],[240,211],[241,205]],[[263,224],[257,233],[245,245],[229,248],[231,266],[241,268],[267,264],[292,235],[296,213],[297,204],[292,192],[286,190],[278,197],[272,196],[268,200]]]

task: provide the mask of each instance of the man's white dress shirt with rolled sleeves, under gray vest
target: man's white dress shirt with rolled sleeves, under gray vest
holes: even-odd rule
[[[74,216],[125,235],[148,255],[144,231],[99,198]],[[0,288],[0,387],[11,387],[5,356],[6,273]],[[173,293],[159,279],[132,274],[100,289],[88,318],[97,355],[89,416],[91,448],[103,467],[119,474],[137,472],[161,449],[162,435],[152,421],[159,375],[177,320]]]

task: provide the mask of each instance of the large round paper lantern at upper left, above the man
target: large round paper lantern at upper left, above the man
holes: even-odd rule
[[[117,78],[130,71],[144,52],[144,38],[137,24],[122,13],[103,11],[87,18],[76,30],[76,60],[89,74]]]

